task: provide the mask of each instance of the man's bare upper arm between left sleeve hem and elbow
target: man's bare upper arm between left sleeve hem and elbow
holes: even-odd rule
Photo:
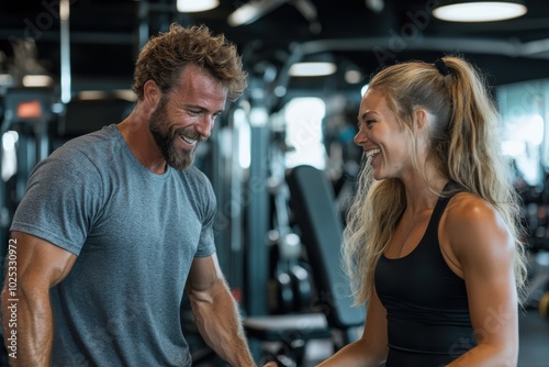
[[[18,231],[11,233],[8,246],[7,260],[15,259],[18,278],[29,286],[54,287],[67,276],[77,258],[51,242]]]

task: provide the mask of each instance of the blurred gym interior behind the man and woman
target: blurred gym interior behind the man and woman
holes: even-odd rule
[[[336,233],[345,225],[361,157],[352,144],[356,115],[370,75],[399,62],[462,55],[486,74],[501,112],[502,151],[524,198],[531,286],[522,313],[519,366],[547,366],[549,3],[500,1],[495,10],[466,8],[458,20],[441,7],[477,1],[212,0],[203,9],[208,3],[0,2],[2,243],[35,164],[67,140],[131,111],[133,64],[147,40],[172,22],[205,24],[238,46],[249,74],[249,88],[198,152],[197,164],[219,200],[220,260],[249,319],[258,359],[314,365],[344,343],[349,324],[360,329],[363,314],[356,324],[346,320],[356,310],[337,301],[347,294],[325,292],[323,274],[337,268],[338,258],[311,256],[314,246],[323,248],[322,230],[296,212],[311,210],[303,215],[318,215]],[[513,10],[518,13],[509,19],[494,19]],[[301,166],[315,168],[327,184],[329,214],[289,185],[289,173]],[[333,245],[338,248],[337,241]],[[183,302],[183,326],[195,335],[186,311]],[[343,319],[334,316],[339,313]],[[274,320],[280,329],[274,316],[294,315],[285,319],[292,326],[287,330],[269,324]],[[195,336],[189,341],[197,365],[221,364]]]

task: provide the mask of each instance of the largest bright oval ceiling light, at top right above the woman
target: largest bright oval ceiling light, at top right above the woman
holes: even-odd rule
[[[526,14],[522,1],[442,1],[433,14],[451,22],[493,22]]]

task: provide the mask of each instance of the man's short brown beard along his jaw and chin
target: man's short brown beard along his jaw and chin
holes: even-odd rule
[[[175,169],[189,168],[194,162],[194,152],[198,141],[203,140],[192,127],[181,127],[175,131],[170,130],[169,118],[167,113],[168,99],[163,97],[158,102],[158,108],[150,115],[149,130],[155,138],[156,145],[160,149],[168,166]],[[176,147],[176,140],[180,136],[186,136],[197,141],[197,145],[192,149],[180,149]]]

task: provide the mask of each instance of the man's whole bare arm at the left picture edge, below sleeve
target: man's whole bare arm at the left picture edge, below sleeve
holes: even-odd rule
[[[76,255],[42,238],[11,234],[1,294],[10,366],[51,365],[54,322],[49,289],[67,276],[75,260]]]

